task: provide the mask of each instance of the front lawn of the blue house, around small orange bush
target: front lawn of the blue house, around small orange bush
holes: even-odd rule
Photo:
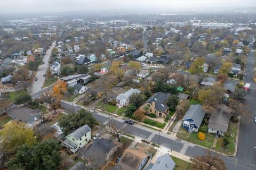
[[[203,147],[213,149],[212,145],[213,145],[214,137],[212,137],[208,133],[204,133],[204,134],[205,134],[205,139],[204,139],[204,141],[201,141],[198,139],[198,136],[197,136],[198,133],[188,133],[188,131],[185,128],[181,127],[177,137],[179,139],[186,140],[188,142],[195,143],[197,145],[201,145]]]

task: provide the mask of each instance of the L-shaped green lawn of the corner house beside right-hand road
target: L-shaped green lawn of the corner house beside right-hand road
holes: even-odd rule
[[[237,123],[229,122],[227,136],[228,136],[230,144],[227,148],[222,148],[222,139],[223,138],[219,138],[217,141],[215,150],[217,150],[219,152],[223,152],[225,154],[229,154],[229,155],[234,154],[235,145],[236,145],[236,135],[237,135]]]

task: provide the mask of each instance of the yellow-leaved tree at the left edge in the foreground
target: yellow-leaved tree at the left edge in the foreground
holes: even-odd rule
[[[15,147],[22,144],[33,145],[36,142],[33,129],[23,122],[11,121],[3,126],[1,132],[3,141],[1,147],[6,152],[15,151]]]

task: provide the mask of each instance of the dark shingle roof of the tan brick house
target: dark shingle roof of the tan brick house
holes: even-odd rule
[[[151,96],[145,104],[149,103],[152,105],[153,102],[155,102],[155,109],[158,112],[164,113],[168,106],[166,106],[164,103],[169,98],[170,94],[164,94],[163,92],[157,92],[153,96]]]

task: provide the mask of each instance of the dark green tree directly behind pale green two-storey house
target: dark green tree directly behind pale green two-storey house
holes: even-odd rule
[[[85,111],[83,108],[80,109],[76,114],[68,114],[59,120],[59,126],[65,134],[73,132],[85,124],[90,126],[90,128],[93,128],[95,123],[96,121],[92,114]]]

